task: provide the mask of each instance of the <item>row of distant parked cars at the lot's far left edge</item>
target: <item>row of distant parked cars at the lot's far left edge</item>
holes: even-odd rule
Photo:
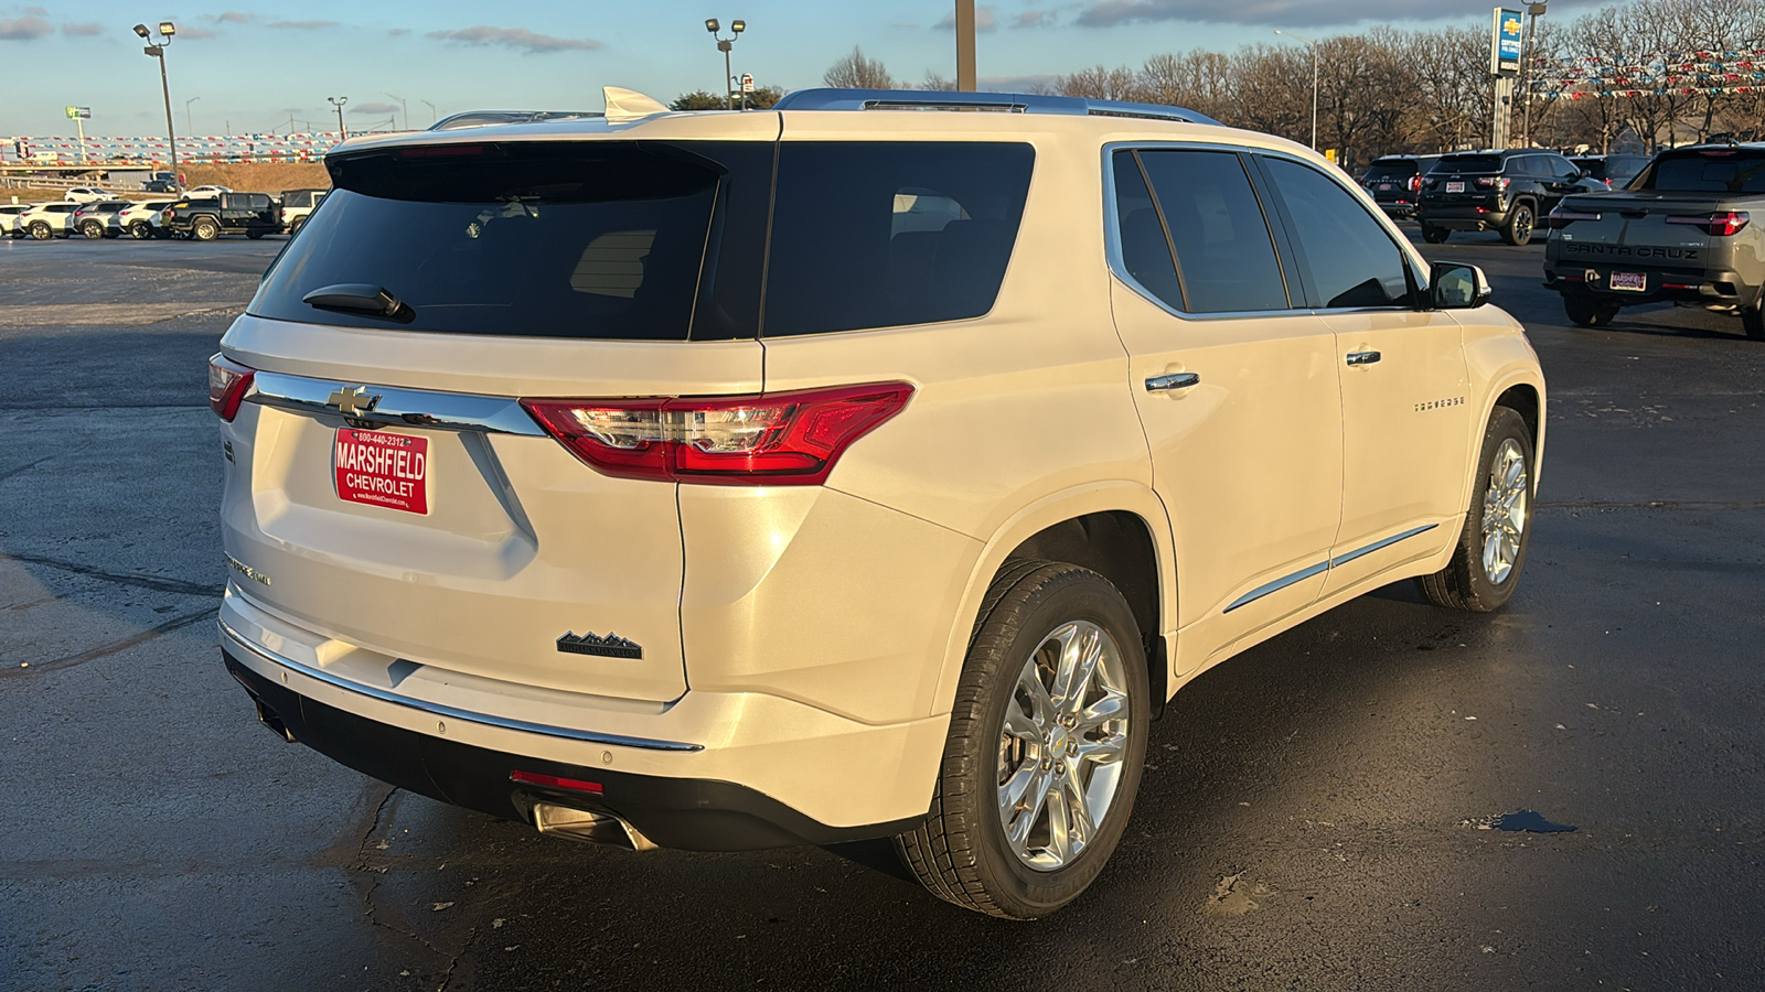
[[[72,191],[69,191],[72,192]],[[0,235],[14,238],[83,237],[86,240],[192,238],[210,242],[221,235],[295,233],[325,198],[323,189],[289,189],[281,198],[267,192],[233,192],[214,187],[205,196],[161,199],[58,199],[49,203],[0,205]]]

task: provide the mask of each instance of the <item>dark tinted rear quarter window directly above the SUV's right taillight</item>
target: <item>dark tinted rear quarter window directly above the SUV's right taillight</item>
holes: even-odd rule
[[[766,337],[978,318],[1029,196],[1020,143],[785,141]]]

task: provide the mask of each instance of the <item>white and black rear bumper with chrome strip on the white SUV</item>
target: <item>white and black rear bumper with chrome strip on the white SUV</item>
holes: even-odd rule
[[[224,664],[267,722],[298,743],[503,819],[533,823],[537,803],[614,815],[662,847],[748,851],[900,833],[930,805],[948,727],[948,717],[865,725],[771,695],[718,692],[665,706],[577,695],[568,708],[530,692],[491,713],[469,692],[441,695],[447,685],[399,669],[406,662],[378,665],[374,678],[369,667],[305,658],[286,627],[261,614],[268,623],[252,623],[252,614],[229,591]],[[514,771],[600,793],[521,784]]]

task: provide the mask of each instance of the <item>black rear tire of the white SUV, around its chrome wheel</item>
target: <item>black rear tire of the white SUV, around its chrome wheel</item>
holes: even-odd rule
[[[1089,840],[1085,840],[1071,860],[1052,870],[1038,870],[1025,863],[1006,837],[1006,824],[999,814],[999,789],[1003,782],[1001,768],[1017,755],[1015,773],[1027,773],[1034,778],[1036,761],[1022,750],[1025,745],[1018,738],[1017,750],[1004,741],[1006,710],[1017,708],[1022,717],[1024,703],[1018,692],[1018,678],[1025,673],[1040,648],[1050,643],[1068,623],[1089,623],[1107,632],[1108,641],[1119,651],[1119,692],[1128,697],[1124,731],[1121,745],[1121,768],[1115,778],[1115,791],[1096,823]],[[1100,669],[1101,671],[1101,669]],[[1087,683],[1082,699],[1091,699],[1091,692],[1101,690],[1107,680]],[[974,623],[974,635],[969,639],[969,655],[962,667],[962,680],[957,685],[955,708],[950,715],[950,740],[944,745],[944,759],[939,766],[937,784],[932,791],[932,812],[916,830],[895,837],[895,847],[907,870],[939,898],[957,906],[1004,916],[1008,920],[1036,920],[1047,916],[1078,895],[1103,870],[1110,853],[1121,840],[1133,810],[1133,796],[1140,787],[1140,770],[1145,764],[1147,724],[1151,722],[1149,681],[1145,673],[1145,653],[1142,650],[1140,630],[1121,593],[1096,572],[1077,565],[1048,561],[1011,561],[999,570],[981,604],[980,618]],[[1055,695],[1055,699],[1059,699]],[[1089,706],[1089,704],[1087,704]],[[1045,724],[1036,724],[1045,727]],[[1071,724],[1061,724],[1071,727]],[[1055,734],[1064,729],[1048,727]],[[1071,750],[1061,748],[1061,738],[1054,740],[1052,754],[1077,754],[1078,740],[1071,738]],[[1036,747],[1034,743],[1027,747]],[[1047,757],[1050,752],[1043,752]],[[1041,771],[1061,766],[1061,761],[1043,761]],[[1070,768],[1089,768],[1082,771],[1094,775],[1107,764],[1084,766],[1080,759],[1071,759]],[[1110,763],[1114,764],[1114,763]],[[1054,771],[1055,778],[1045,782],[1077,782],[1080,771],[1071,778]],[[1096,778],[1087,778],[1087,785]],[[1052,810],[1052,807],[1048,807]],[[1063,803],[1063,808],[1064,807]],[[1034,810],[1045,810],[1038,805]],[[1043,812],[1031,812],[1036,823]],[[1052,833],[1052,812],[1048,812]],[[1082,833],[1082,831],[1080,831]],[[1052,840],[1048,847],[1052,849]],[[1047,851],[1045,851],[1047,853]]]

